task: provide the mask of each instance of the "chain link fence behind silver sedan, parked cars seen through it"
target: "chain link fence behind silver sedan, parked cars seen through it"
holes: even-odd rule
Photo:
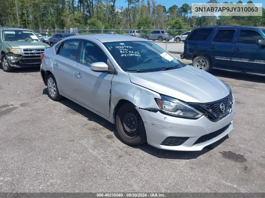
[[[35,33],[45,33],[44,29],[35,29]],[[75,33],[85,34],[105,34],[107,32],[116,32],[119,35],[136,36],[145,38],[158,44],[160,47],[171,53],[183,53],[184,40],[191,29],[49,29],[53,36],[57,33]]]

